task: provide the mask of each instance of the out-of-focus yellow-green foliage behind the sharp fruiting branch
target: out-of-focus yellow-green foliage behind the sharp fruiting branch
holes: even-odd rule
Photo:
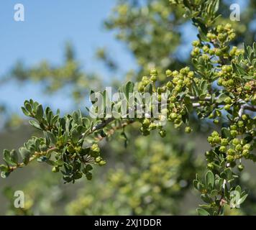
[[[241,1],[242,2],[242,1]],[[238,32],[234,45],[252,44],[256,32],[256,1],[243,1],[240,22],[230,22],[230,4],[222,1],[219,24],[234,24]],[[168,0],[116,0],[116,6],[104,26],[114,32],[116,40],[127,46],[137,69],[124,73],[122,78],[104,79],[104,73],[86,73],[76,57],[73,45],[67,42],[61,65],[42,60],[27,66],[22,61],[14,63],[12,70],[1,77],[1,86],[9,80],[39,82],[43,92],[55,95],[58,91],[70,93],[76,106],[88,104],[91,88],[119,86],[126,80],[137,80],[147,75],[150,68],[159,72],[190,65],[191,38],[196,29],[183,17],[182,8],[172,8]],[[89,35],[88,35],[89,36]],[[75,44],[76,45],[76,44]],[[79,52],[79,50],[77,50]],[[113,73],[121,68],[108,47],[99,47],[96,57]],[[164,78],[163,78],[164,80]],[[68,90],[67,90],[68,89]],[[8,106],[0,106],[0,149],[18,147],[34,129],[27,126]],[[195,214],[198,203],[192,181],[196,172],[202,172],[204,152],[209,149],[206,134],[209,124],[194,119],[193,134],[168,125],[165,139],[150,134],[142,137],[137,124],[126,130],[128,146],[124,147],[122,132],[116,132],[110,140],[102,141],[103,154],[108,165],[97,168],[92,181],[83,178],[75,185],[64,185],[59,175],[49,172],[47,165],[32,164],[7,180],[1,179],[0,213],[18,215],[180,215]],[[4,147],[2,147],[4,146]],[[243,172],[242,183],[250,189],[250,198],[241,211],[232,214],[255,214],[256,184],[252,183],[255,169],[252,165]],[[250,183],[249,183],[250,181]],[[25,208],[13,206],[14,190],[25,193]]]

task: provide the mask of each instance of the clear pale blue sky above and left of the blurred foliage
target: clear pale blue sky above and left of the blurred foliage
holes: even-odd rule
[[[24,5],[24,22],[14,21],[14,5],[17,3]],[[66,41],[73,43],[78,59],[86,70],[104,73],[104,78],[111,78],[111,74],[97,62],[97,47],[107,47],[112,56],[122,60],[125,63],[123,71],[134,68],[134,60],[125,45],[104,29],[103,21],[114,4],[114,0],[1,0],[0,75],[7,73],[17,60],[24,61],[26,65],[38,63],[42,59],[61,63]],[[0,102],[8,102],[12,111],[19,111],[27,98],[35,98],[60,109],[70,106],[63,92],[45,96],[38,85],[11,82],[0,87]]]

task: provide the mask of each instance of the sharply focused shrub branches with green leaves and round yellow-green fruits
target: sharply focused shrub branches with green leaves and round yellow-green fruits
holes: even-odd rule
[[[126,95],[133,91],[168,92],[166,119],[175,129],[184,129],[186,133],[193,132],[189,126],[193,113],[216,126],[207,139],[211,144],[211,149],[205,153],[208,171],[204,180],[196,175],[193,185],[204,201],[197,209],[198,214],[222,215],[225,206],[234,208],[231,202],[234,191],[239,194],[237,205],[247,197],[236,180],[237,171],[244,170],[242,161],[256,161],[256,43],[244,45],[243,49],[231,47],[236,37],[232,24],[216,24],[219,0],[172,0],[170,4],[183,6],[186,17],[191,17],[198,28],[198,40],[192,42],[193,66],[166,70],[166,80],[160,80],[159,75],[163,73],[152,68],[140,82],[128,82],[119,91]],[[157,98],[162,99],[161,95]],[[139,122],[140,132],[145,136],[154,129],[160,137],[166,135],[164,126],[155,122],[161,117],[88,119],[81,111],[61,117],[60,111],[53,113],[49,107],[43,109],[32,99],[24,102],[22,111],[33,119],[29,123],[42,132],[42,137],[32,137],[19,152],[4,150],[6,165],[0,166],[3,178],[37,160],[51,165],[52,172],[62,173],[65,183],[74,183],[83,174],[91,180],[93,165],[106,164],[99,142],[116,129]]]

